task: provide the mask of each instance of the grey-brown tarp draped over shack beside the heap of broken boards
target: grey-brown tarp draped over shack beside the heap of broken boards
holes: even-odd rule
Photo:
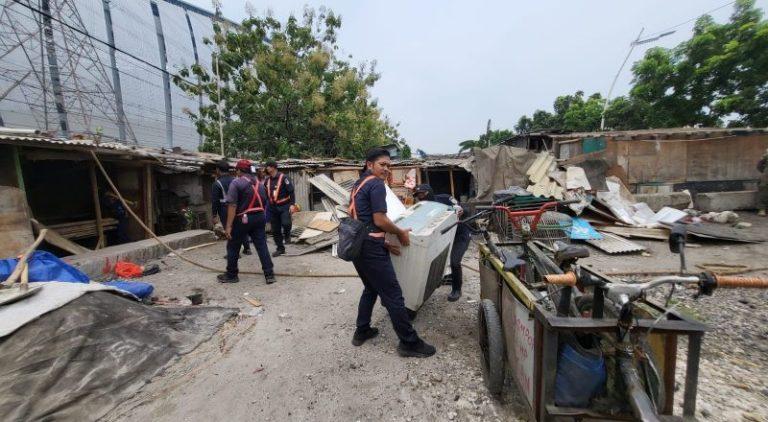
[[[477,200],[490,201],[493,192],[510,186],[528,186],[525,175],[536,153],[523,148],[496,145],[472,150],[475,161],[472,175],[477,181]]]

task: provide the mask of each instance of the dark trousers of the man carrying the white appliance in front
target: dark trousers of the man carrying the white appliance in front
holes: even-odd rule
[[[376,304],[376,297],[381,297],[381,304],[387,308],[392,327],[400,341],[404,343],[419,341],[419,336],[413,329],[411,319],[405,310],[403,291],[400,289],[400,283],[397,282],[389,251],[384,248],[384,239],[366,239],[360,256],[352,263],[355,264],[357,274],[365,286],[357,309],[357,328],[370,327],[373,305]]]

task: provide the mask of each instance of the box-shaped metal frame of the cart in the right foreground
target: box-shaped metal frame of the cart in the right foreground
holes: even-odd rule
[[[479,249],[481,301],[492,301],[500,314],[504,344],[504,377],[512,373],[512,378],[525,396],[534,419],[550,421],[556,417],[574,417],[632,420],[631,415],[617,417],[600,414],[588,408],[559,407],[554,401],[559,335],[573,332],[614,332],[617,320],[556,316],[539,304],[537,297],[513,273],[504,271],[502,262],[485,245],[479,245]],[[599,272],[583,269],[610,280]],[[652,301],[643,303],[660,312],[666,311]],[[633,330],[647,331],[651,327],[654,335],[663,340],[661,373],[667,393],[660,415],[664,419],[676,419],[671,415],[674,407],[678,337],[688,337],[683,416],[692,417],[696,412],[701,344],[708,327],[678,313],[669,312],[667,318],[659,322],[639,319]],[[483,335],[482,327],[480,335]]]

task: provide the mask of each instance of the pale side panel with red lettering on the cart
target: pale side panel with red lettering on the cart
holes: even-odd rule
[[[534,324],[528,308],[518,301],[509,289],[502,289],[502,315],[507,346],[507,364],[512,369],[517,386],[533,407],[534,380]]]

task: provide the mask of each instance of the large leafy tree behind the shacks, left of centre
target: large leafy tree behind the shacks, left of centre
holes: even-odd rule
[[[213,39],[205,40],[220,51],[213,70],[191,66],[174,78],[188,94],[210,99],[188,113],[205,138],[202,149],[220,151],[218,107],[228,155],[359,158],[373,146],[407,146],[370,96],[379,79],[375,62],[354,67],[338,57],[340,27],[341,18],[325,9],[285,23],[271,16],[236,29],[215,23]]]

